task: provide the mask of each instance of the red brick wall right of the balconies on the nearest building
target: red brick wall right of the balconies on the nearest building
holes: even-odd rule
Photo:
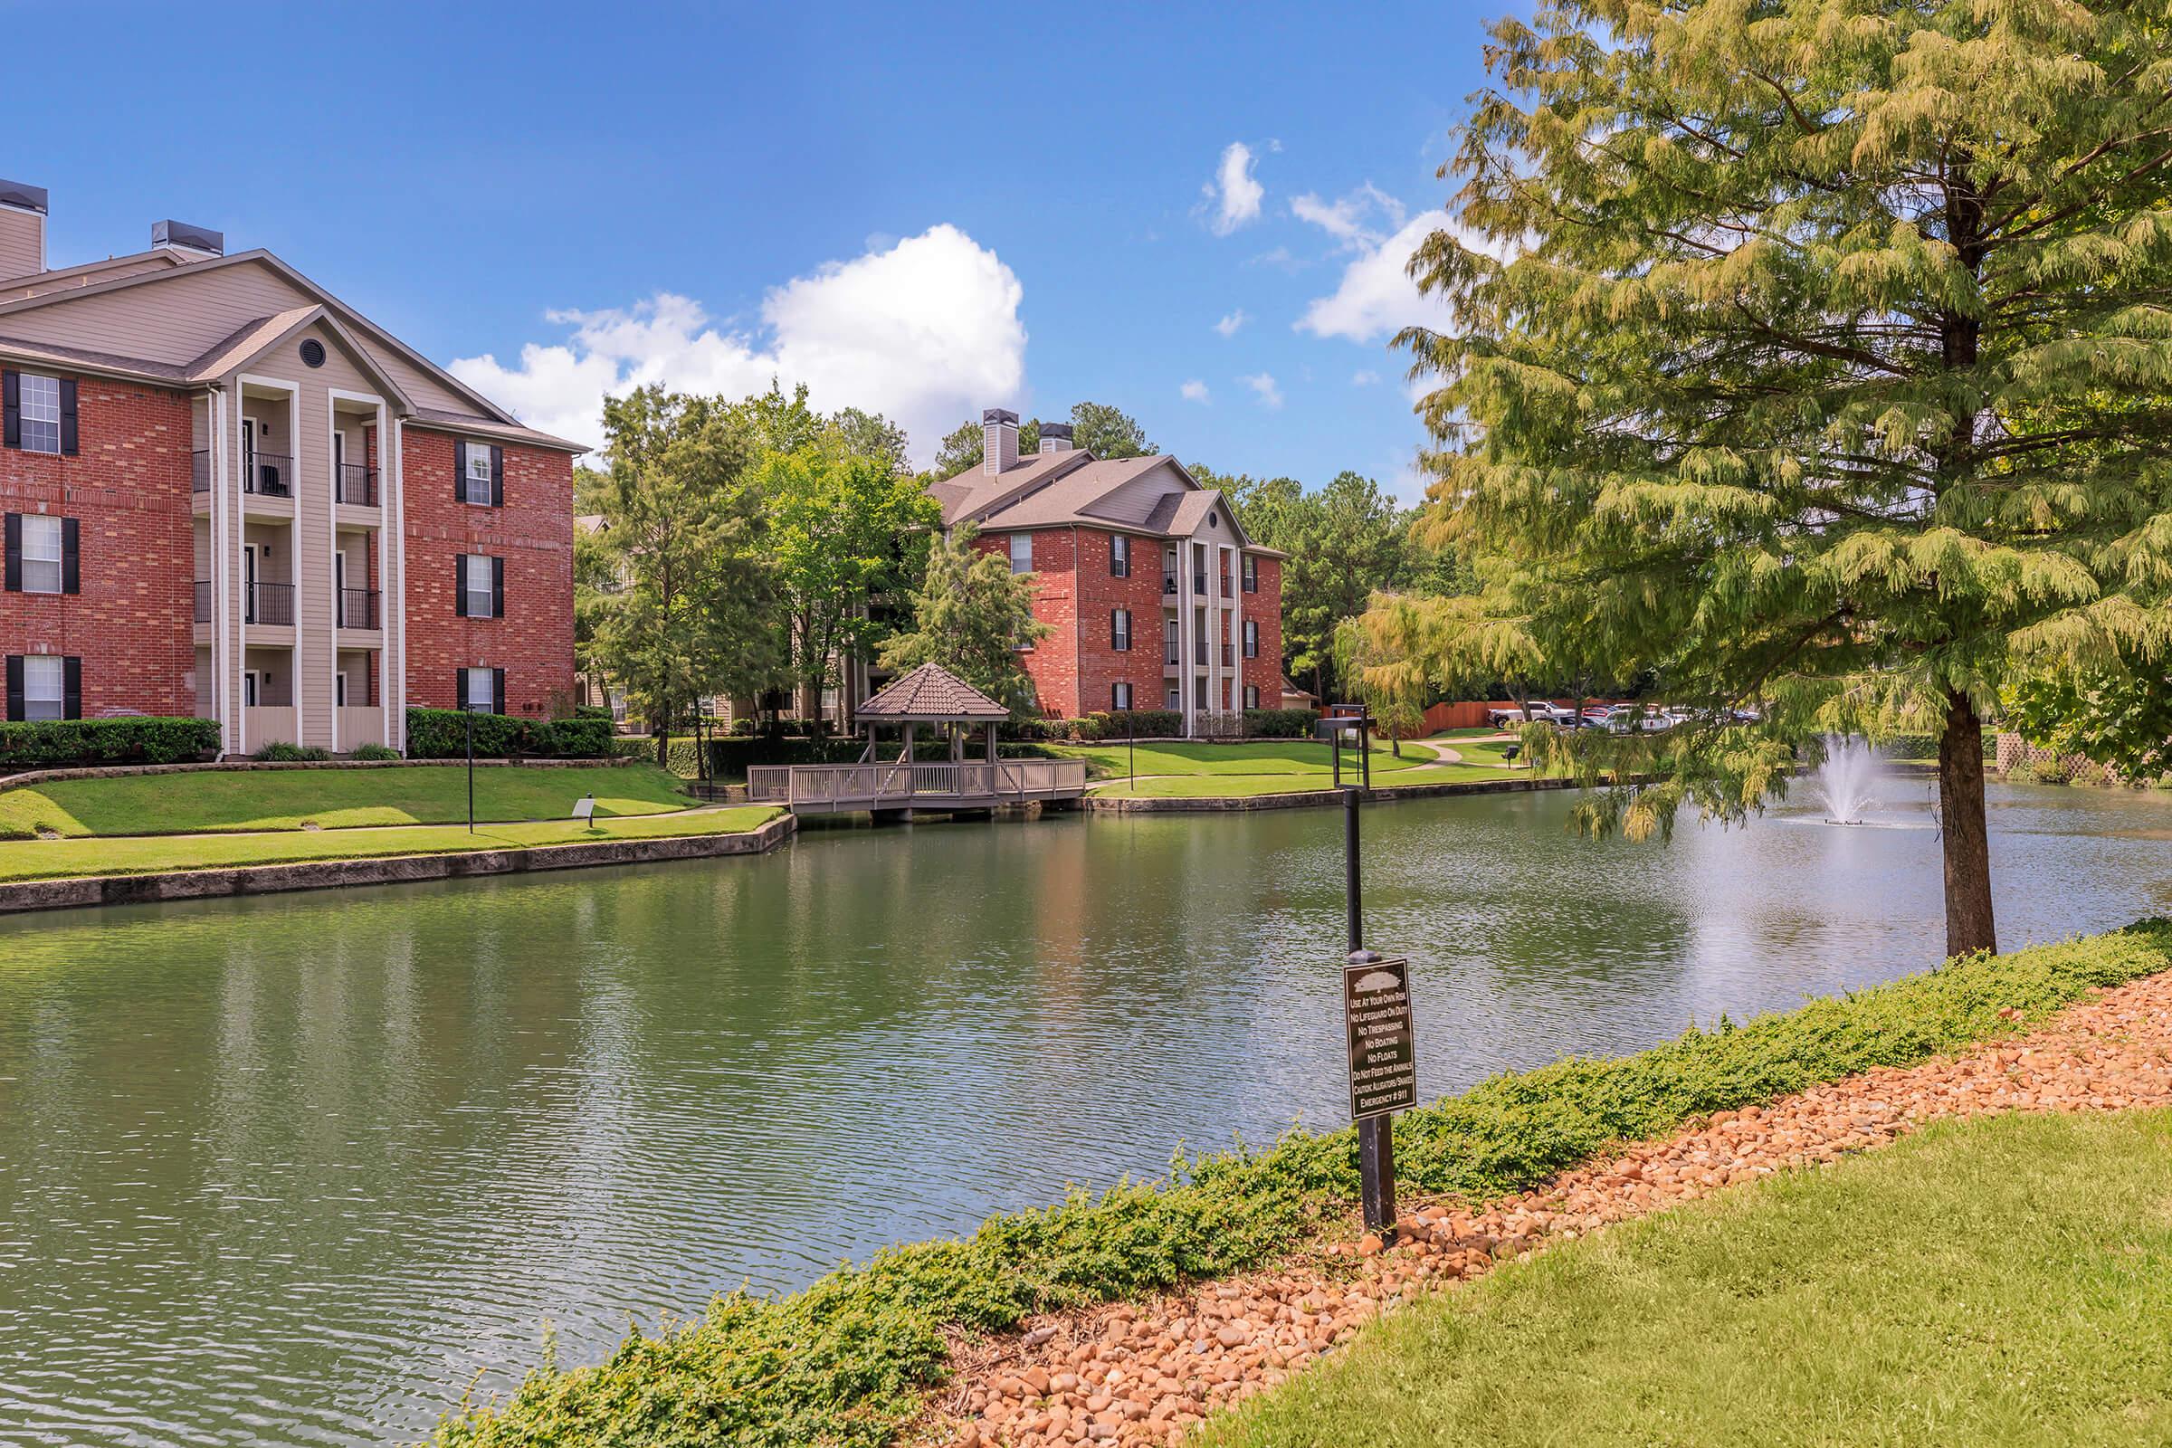
[[[456,495],[456,434],[411,425],[402,436],[408,703],[458,708],[458,669],[504,669],[508,714],[565,712],[573,699],[573,458],[504,445],[506,501],[482,508]],[[506,560],[502,619],[456,612],[458,554]]]

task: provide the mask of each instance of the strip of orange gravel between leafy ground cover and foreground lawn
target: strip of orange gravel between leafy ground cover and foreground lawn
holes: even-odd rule
[[[1394,1242],[1323,1242],[1266,1272],[1142,1305],[1034,1318],[999,1342],[960,1344],[951,1385],[917,1439],[956,1448],[1173,1444],[1379,1311],[1549,1242],[1883,1146],[1931,1120],[2146,1105],[2172,1105],[2172,973],[2098,992],[2029,1036],[1966,1055],[1720,1112],[1483,1209],[1405,1203]]]

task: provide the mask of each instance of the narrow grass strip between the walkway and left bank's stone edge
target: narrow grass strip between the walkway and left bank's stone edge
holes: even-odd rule
[[[239,864],[293,864],[295,860],[367,860],[384,855],[445,855],[521,844],[580,844],[589,840],[652,840],[693,834],[745,834],[775,818],[775,805],[699,810],[649,818],[608,818],[595,829],[573,821],[517,825],[426,825],[415,829],[291,829],[243,836],[113,836],[76,840],[0,842],[0,881],[63,879],[76,875],[152,875],[209,871]]]

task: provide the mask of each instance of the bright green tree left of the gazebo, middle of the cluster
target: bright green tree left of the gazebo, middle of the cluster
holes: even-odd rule
[[[845,452],[836,436],[769,454],[760,486],[799,714],[817,719],[838,664],[880,643],[886,625],[871,606],[910,582],[943,512],[919,478]]]

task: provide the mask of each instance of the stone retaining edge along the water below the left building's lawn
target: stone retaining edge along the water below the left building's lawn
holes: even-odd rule
[[[395,886],[417,879],[463,879],[467,875],[578,871],[597,864],[760,855],[784,844],[795,829],[797,821],[791,814],[780,814],[752,834],[595,840],[593,844],[534,844],[528,849],[473,849],[445,855],[389,855],[374,860],[302,860],[295,864],[248,864],[224,871],[167,871],[161,875],[24,879],[0,884],[0,914],[74,910],[80,905],[195,901],[222,894],[280,894],[287,890],[332,890],[341,886]]]

